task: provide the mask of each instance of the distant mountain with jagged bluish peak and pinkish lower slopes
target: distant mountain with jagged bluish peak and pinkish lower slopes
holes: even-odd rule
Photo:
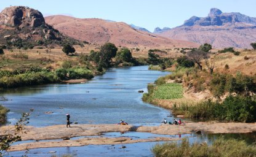
[[[171,39],[209,43],[215,48],[251,48],[256,41],[256,18],[241,13],[210,9],[207,17],[191,17],[182,26],[156,29],[155,34]]]

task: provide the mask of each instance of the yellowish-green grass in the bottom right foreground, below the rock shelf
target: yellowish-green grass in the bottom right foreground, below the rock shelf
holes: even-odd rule
[[[256,146],[247,145],[244,140],[218,138],[212,145],[207,143],[194,143],[190,145],[188,139],[183,139],[181,144],[167,142],[156,144],[151,148],[154,156],[158,157],[222,157],[222,156],[256,156]]]

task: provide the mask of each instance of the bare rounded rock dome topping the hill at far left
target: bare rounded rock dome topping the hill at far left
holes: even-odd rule
[[[0,25],[31,26],[36,28],[45,24],[42,13],[38,10],[30,9],[29,7],[7,7],[0,13]]]

